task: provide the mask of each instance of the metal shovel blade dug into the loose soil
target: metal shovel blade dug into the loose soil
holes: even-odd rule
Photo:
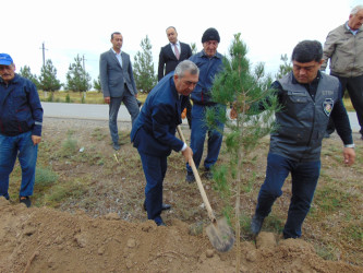
[[[235,238],[226,217],[215,219],[206,227],[206,234],[210,244],[220,252],[227,252],[233,247]]]

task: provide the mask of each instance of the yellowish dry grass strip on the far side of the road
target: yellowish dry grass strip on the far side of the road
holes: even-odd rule
[[[71,91],[55,92],[51,98],[50,93],[45,94],[39,91],[39,97],[41,102],[53,102],[53,103],[74,103],[74,104],[104,104],[104,96],[100,92],[87,92],[86,97],[83,98],[82,94]],[[147,94],[140,93],[137,99],[142,103],[145,102]],[[348,111],[355,111],[350,98],[343,99]]]

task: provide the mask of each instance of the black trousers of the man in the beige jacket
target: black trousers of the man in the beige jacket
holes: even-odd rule
[[[358,122],[360,123],[361,130],[360,133],[363,135],[363,75],[353,76],[353,78],[344,78],[337,76],[340,81],[342,87],[341,96],[344,96],[346,90],[349,93],[350,100],[356,112]],[[326,129],[327,133],[332,133],[336,130],[332,119],[329,119],[328,127]]]

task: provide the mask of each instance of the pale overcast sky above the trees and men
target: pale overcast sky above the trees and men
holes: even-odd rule
[[[38,75],[45,43],[46,59],[52,60],[61,82],[76,55],[84,55],[86,71],[94,80],[99,74],[99,55],[111,47],[112,32],[122,33],[122,50],[132,62],[148,35],[157,69],[160,47],[168,43],[168,26],[176,26],[179,39],[196,43],[198,50],[204,31],[215,27],[221,39],[219,52],[228,54],[233,34],[241,33],[250,61],[264,62],[266,71],[275,74],[281,55],[290,57],[303,39],[324,43],[328,32],[343,24],[358,4],[363,0],[2,1],[0,51],[12,56],[17,71],[29,66]]]

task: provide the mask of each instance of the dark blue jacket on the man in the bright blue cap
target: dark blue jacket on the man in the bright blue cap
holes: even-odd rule
[[[0,133],[17,135],[32,130],[41,135],[43,108],[34,83],[15,74],[8,84],[0,78]]]

